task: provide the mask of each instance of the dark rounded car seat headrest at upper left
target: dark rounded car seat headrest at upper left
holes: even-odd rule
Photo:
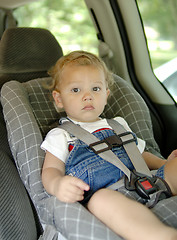
[[[0,41],[0,82],[2,76],[4,82],[5,79],[26,81],[32,78],[21,79],[19,74],[45,72],[41,75],[44,77],[62,55],[62,48],[48,30],[8,28]]]

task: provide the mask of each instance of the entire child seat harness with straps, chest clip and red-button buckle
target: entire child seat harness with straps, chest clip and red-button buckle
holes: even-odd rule
[[[160,195],[163,194],[163,199],[171,196],[171,191],[167,183],[164,180],[152,176],[136,146],[133,134],[125,130],[125,128],[116,120],[107,119],[107,122],[113,128],[115,135],[103,140],[100,140],[87,130],[73,123],[71,120],[63,122],[59,127],[85,142],[95,154],[98,154],[102,159],[112,163],[123,171],[126,176],[124,180],[125,188],[130,191],[136,191],[139,196],[146,199],[146,205],[149,208],[153,207],[158,202],[158,199],[161,200],[159,197]],[[113,153],[112,148],[117,146],[124,147],[135,167],[135,171],[130,171],[121,162],[118,156]],[[119,181],[122,186],[123,179]],[[117,187],[120,187],[119,181],[111,185],[109,188],[115,190],[115,186],[116,189],[118,189]],[[158,185],[162,186],[160,187],[161,189],[156,182],[160,182]],[[149,199],[152,199],[152,201],[149,201]]]

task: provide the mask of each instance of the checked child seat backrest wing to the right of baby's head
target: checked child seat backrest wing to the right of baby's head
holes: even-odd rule
[[[146,103],[127,82],[116,75],[114,79],[115,85],[111,89],[112,94],[102,116],[106,118],[123,117],[132,131],[146,141],[146,150],[161,156],[159,147],[154,140],[152,122]]]

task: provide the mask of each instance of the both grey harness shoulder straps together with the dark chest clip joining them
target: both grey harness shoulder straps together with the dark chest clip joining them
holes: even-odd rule
[[[134,165],[136,171],[138,173],[152,177],[149,168],[147,167],[143,157],[141,156],[141,153],[136,146],[132,133],[125,130],[125,128],[116,120],[107,119],[107,122],[115,131],[116,135],[108,137],[106,141],[105,139],[100,140],[79,125],[74,124],[72,121],[64,122],[62,125],[60,125],[60,128],[63,128],[67,132],[85,142],[101,158],[114,164],[121,171],[123,171],[130,181],[131,171],[111,150],[112,147],[115,146],[116,141],[118,141],[117,146],[124,146],[124,149],[130,157],[130,160],[132,161],[132,164]]]

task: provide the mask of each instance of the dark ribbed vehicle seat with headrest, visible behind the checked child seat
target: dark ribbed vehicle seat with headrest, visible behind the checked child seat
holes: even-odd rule
[[[7,29],[0,41],[0,88],[12,79],[24,82],[48,76],[48,69],[62,55],[60,45],[48,30]],[[0,131],[0,239],[37,239],[42,229],[14,165],[1,105]]]

